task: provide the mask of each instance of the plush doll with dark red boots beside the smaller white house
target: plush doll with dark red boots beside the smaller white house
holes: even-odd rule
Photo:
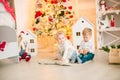
[[[31,55],[28,54],[28,52],[26,52],[26,48],[27,48],[27,40],[24,39],[25,32],[21,31],[19,37],[18,37],[18,43],[19,43],[19,60],[21,61],[22,59],[25,59],[26,62],[29,62],[31,59]]]

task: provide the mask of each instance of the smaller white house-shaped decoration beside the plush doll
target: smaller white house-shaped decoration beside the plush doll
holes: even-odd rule
[[[31,31],[21,31],[20,35],[22,36],[22,40],[24,46],[26,46],[26,52],[31,56],[37,55],[37,36],[34,35]]]

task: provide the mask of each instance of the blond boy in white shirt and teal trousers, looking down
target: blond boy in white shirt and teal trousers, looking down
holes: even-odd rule
[[[78,50],[78,63],[85,63],[86,61],[93,60],[94,58],[94,44],[92,37],[92,30],[90,28],[84,28],[83,40],[80,43],[80,49]]]

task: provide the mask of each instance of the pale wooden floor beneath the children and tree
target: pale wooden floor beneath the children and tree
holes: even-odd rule
[[[53,53],[38,58],[53,58]],[[71,66],[43,65],[32,57],[30,62],[0,60],[0,80],[120,80],[120,65],[108,63],[108,53],[96,51],[92,62]]]

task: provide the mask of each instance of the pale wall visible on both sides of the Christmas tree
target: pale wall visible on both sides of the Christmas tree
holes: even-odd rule
[[[14,0],[18,30],[22,28],[32,28],[32,22],[34,21],[33,19],[35,14],[35,1],[36,0]],[[75,10],[77,19],[85,16],[94,25],[96,24],[95,0],[71,0],[71,4]]]

